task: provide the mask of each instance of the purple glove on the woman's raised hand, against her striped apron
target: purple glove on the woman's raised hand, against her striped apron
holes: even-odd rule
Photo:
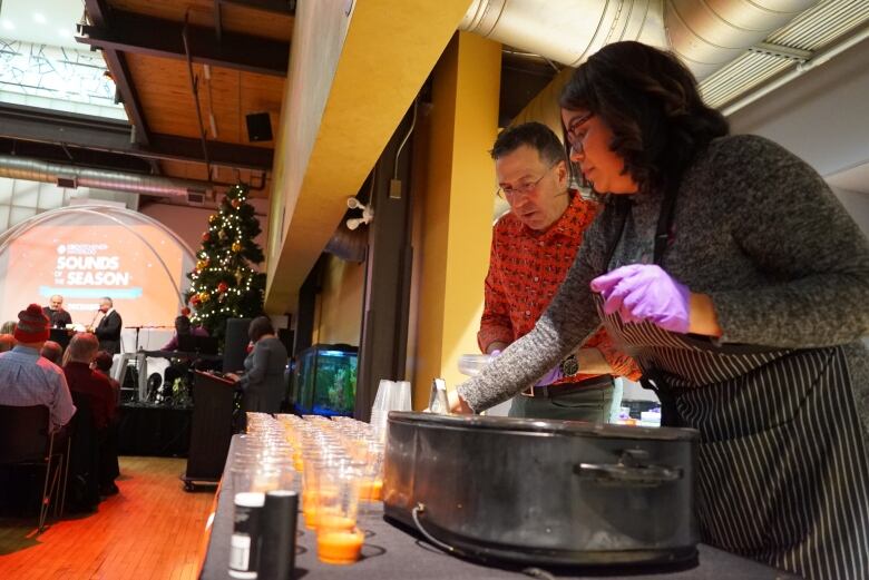
[[[592,281],[604,297],[604,313],[618,312],[624,322],[650,321],[665,331],[689,331],[691,291],[660,266],[632,264]]]

